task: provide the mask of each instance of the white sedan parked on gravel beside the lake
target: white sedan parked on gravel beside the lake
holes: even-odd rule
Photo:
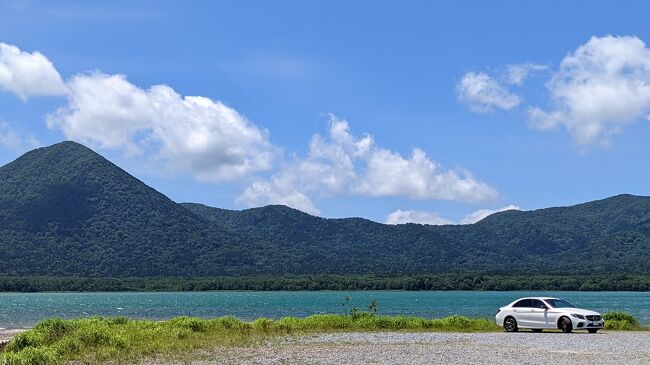
[[[596,333],[605,326],[598,312],[576,308],[562,299],[545,297],[517,299],[499,308],[496,321],[508,332],[526,328],[533,332],[561,329],[565,333],[573,330]]]

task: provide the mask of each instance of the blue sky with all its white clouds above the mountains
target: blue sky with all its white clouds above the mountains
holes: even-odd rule
[[[0,0],[0,163],[177,202],[468,224],[648,195],[643,1]]]

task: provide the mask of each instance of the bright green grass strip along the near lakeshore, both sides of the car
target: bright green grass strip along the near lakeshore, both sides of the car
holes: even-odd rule
[[[647,330],[625,312],[605,314],[607,329]],[[243,322],[234,317],[200,319],[178,317],[168,321],[130,320],[124,317],[63,320],[51,318],[17,335],[0,353],[2,365],[63,364],[69,361],[133,362],[150,356],[182,356],[199,349],[255,346],[288,334],[337,331],[448,331],[501,330],[487,318],[451,316],[439,319],[380,316],[351,310],[345,315],[314,315],[279,320],[259,318]]]

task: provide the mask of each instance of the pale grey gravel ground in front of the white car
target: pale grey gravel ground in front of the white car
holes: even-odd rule
[[[190,363],[650,364],[650,333],[336,333],[203,353]]]

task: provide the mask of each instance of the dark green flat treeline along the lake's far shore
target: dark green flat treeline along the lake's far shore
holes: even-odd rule
[[[206,278],[0,276],[0,292],[210,290],[536,290],[650,291],[650,275],[485,275],[449,273],[395,277],[350,275]]]

